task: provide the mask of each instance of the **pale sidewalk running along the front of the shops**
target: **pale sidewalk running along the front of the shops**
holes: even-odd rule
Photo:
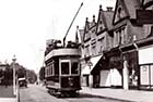
[[[153,91],[82,87],[80,92],[132,102],[153,102]]]

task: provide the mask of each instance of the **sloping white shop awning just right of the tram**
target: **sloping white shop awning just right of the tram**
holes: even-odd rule
[[[90,75],[91,72],[94,69],[95,65],[96,65],[96,64],[98,63],[98,61],[101,60],[102,56],[103,56],[103,55],[98,55],[98,56],[95,56],[95,58],[91,58],[90,64],[86,65],[86,66],[82,69],[81,74],[82,74],[82,75]]]

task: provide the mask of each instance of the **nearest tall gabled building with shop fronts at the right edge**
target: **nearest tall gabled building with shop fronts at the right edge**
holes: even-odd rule
[[[146,16],[144,13],[148,12],[148,9],[152,10],[152,1],[142,1],[117,0],[116,2],[113,18],[114,48],[118,47],[120,51],[123,89],[142,89],[152,86],[152,60],[150,58],[153,56],[151,53],[153,51],[151,47],[153,18],[148,18],[148,24],[141,23],[139,18]],[[150,50],[150,52],[145,52],[145,50]]]

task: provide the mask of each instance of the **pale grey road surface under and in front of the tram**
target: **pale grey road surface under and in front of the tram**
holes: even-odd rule
[[[91,94],[80,93],[75,98],[56,98],[47,92],[47,89],[37,85],[28,85],[28,88],[20,88],[20,102],[126,102]]]

